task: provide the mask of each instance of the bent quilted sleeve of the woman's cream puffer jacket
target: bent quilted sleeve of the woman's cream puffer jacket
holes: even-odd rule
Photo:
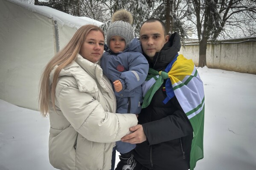
[[[119,141],[138,122],[134,114],[105,112],[88,92],[64,86],[57,102],[65,118],[83,137],[95,142]]]

